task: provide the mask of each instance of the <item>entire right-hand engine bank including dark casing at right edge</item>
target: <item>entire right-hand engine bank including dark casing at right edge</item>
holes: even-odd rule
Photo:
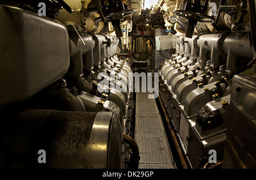
[[[188,15],[187,11],[177,12]],[[191,12],[189,18],[194,15]],[[253,112],[240,109],[247,105],[248,109],[255,109],[255,88],[250,89],[255,87],[255,50],[245,29],[201,31],[193,36],[189,29],[187,37],[177,36],[176,53],[160,65],[160,97],[172,120],[170,128],[176,131],[192,168],[209,164],[212,150],[224,168],[230,168],[228,164],[233,168],[255,168],[255,143],[249,136],[243,139],[238,132],[238,126],[243,132],[248,126],[248,133],[255,136]],[[238,97],[240,89],[245,94]],[[224,149],[230,153],[229,158]],[[235,156],[241,156],[241,161]]]

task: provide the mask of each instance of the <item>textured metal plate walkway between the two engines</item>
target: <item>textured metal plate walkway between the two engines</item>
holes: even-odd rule
[[[170,147],[155,99],[136,93],[135,141],[139,147],[139,169],[175,169]]]

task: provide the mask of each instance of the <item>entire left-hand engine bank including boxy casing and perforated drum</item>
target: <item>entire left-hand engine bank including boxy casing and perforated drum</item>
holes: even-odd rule
[[[133,93],[110,85],[127,87],[131,72],[115,32],[8,5],[0,14],[1,168],[134,168]]]

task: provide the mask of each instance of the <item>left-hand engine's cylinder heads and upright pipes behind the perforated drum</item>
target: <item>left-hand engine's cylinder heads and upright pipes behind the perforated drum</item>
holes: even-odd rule
[[[53,84],[53,100],[57,98],[72,111],[114,111],[123,125],[129,93],[118,91],[112,85],[128,87],[131,67],[129,59],[117,57],[118,38],[94,34],[73,25],[67,29],[71,61],[67,74]],[[108,85],[100,83],[103,79]]]

